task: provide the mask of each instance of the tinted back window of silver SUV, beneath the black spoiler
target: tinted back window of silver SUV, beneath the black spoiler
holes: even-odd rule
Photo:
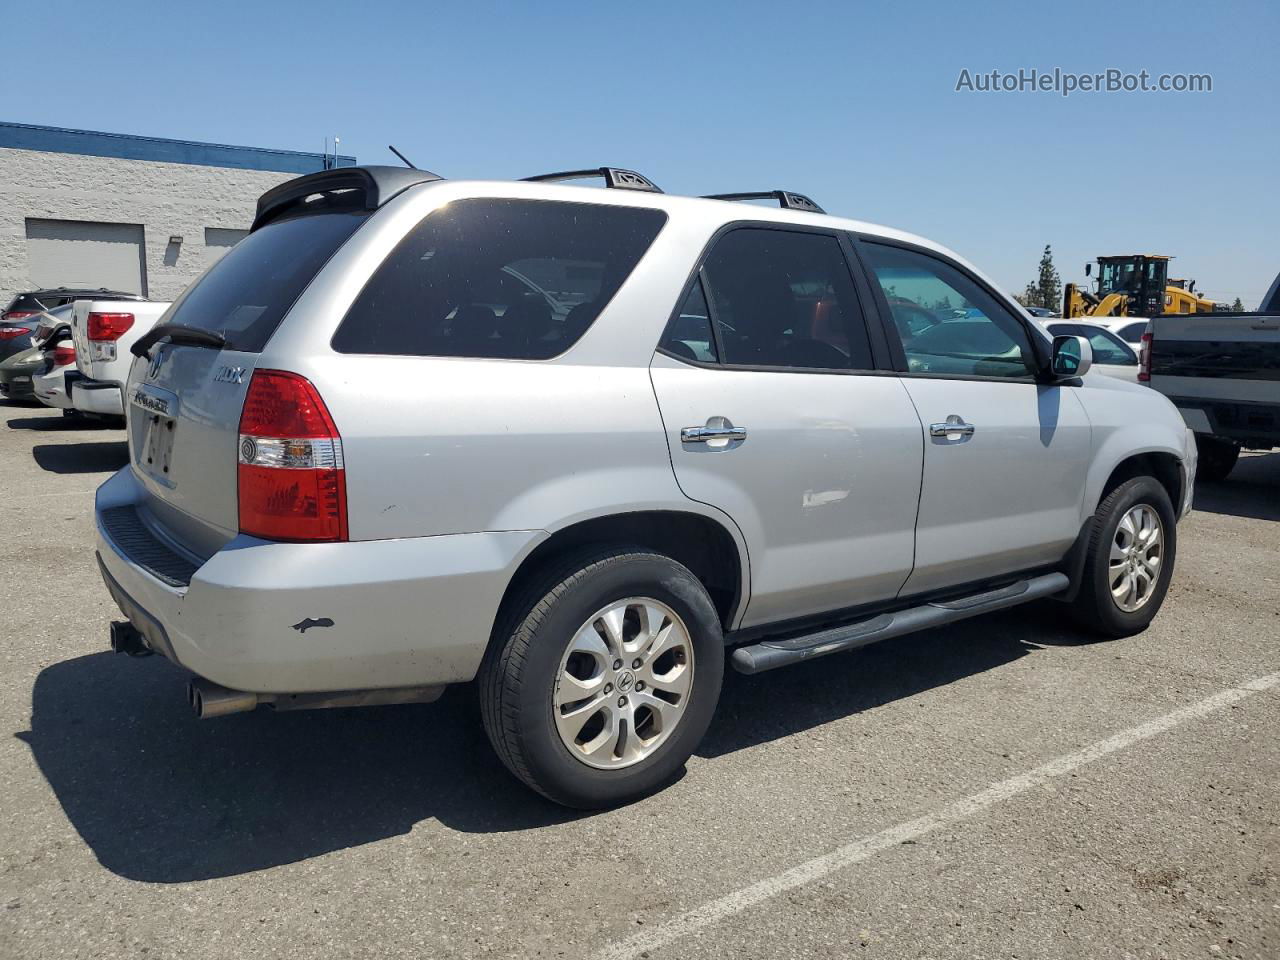
[[[232,247],[173,305],[166,323],[214,330],[228,349],[257,353],[364,212],[276,220]]]

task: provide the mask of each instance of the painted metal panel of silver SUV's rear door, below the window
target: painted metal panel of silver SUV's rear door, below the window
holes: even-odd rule
[[[911,570],[923,458],[900,380],[705,369],[662,355],[650,374],[681,490],[732,517],[746,540],[744,626],[897,594]]]

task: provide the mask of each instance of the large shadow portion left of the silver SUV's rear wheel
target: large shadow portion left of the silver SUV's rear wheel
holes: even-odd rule
[[[56,663],[36,678],[31,730],[17,735],[99,861],[128,879],[237,876],[428,818],[504,832],[576,815],[512,781],[470,687],[434,704],[198,721],[188,676],[159,657]]]

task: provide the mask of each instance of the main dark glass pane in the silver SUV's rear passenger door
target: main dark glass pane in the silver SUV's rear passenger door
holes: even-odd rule
[[[865,321],[835,237],[732,230],[717,241],[703,278],[726,364],[872,367]]]

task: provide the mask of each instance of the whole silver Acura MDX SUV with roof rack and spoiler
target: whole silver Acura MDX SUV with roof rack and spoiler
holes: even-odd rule
[[[1039,596],[1142,630],[1196,468],[1162,396],[942,247],[613,168],[292,180],[133,351],[113,648],[202,717],[477,680],[582,808],[678,773],[726,659]]]

